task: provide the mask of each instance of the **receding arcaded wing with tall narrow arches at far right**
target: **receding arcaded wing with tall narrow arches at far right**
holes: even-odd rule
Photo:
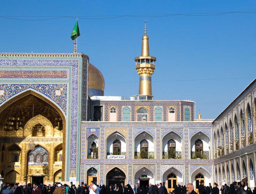
[[[255,108],[254,80],[213,122],[214,181],[219,185],[245,177],[249,187],[255,185]]]

